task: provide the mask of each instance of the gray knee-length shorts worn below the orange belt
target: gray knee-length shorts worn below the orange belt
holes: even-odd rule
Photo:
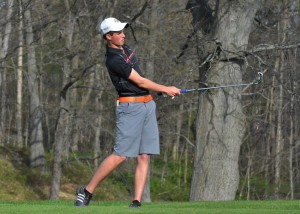
[[[116,108],[116,141],[114,154],[137,157],[139,154],[159,154],[159,134],[156,104],[120,103]]]

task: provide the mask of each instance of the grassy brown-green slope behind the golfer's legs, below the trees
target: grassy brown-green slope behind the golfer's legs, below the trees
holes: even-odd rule
[[[49,198],[51,161],[41,173],[28,167],[28,154],[9,147],[0,147],[0,201],[45,200]],[[60,199],[74,200],[75,189],[85,185],[94,173],[89,154],[71,158],[62,167]],[[79,160],[80,159],[80,160]],[[155,162],[155,164],[154,164]],[[134,160],[129,160],[97,188],[94,201],[130,201],[133,191]],[[179,183],[178,165],[164,164],[158,157],[151,163],[151,198],[154,201],[187,201],[189,184]],[[161,172],[165,170],[163,183]],[[191,170],[189,170],[191,171]],[[183,175],[181,175],[183,176]],[[182,179],[183,180],[183,179]]]

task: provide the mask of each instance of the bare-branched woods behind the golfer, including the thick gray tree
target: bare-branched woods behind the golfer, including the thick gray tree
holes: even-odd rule
[[[51,199],[62,164],[88,154],[96,168],[110,154],[117,94],[98,27],[112,16],[131,23],[126,43],[155,82],[189,89],[264,74],[255,86],[154,94],[161,158],[190,185],[189,200],[298,199],[299,9],[299,0],[0,1],[1,149],[24,149],[31,168],[51,171]]]

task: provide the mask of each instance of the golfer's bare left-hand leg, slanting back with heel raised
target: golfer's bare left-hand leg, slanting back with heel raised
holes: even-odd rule
[[[85,189],[94,193],[96,187],[101,183],[114,169],[116,169],[121,163],[123,163],[127,157],[111,154],[105,158],[97,169],[91,181],[85,187]]]

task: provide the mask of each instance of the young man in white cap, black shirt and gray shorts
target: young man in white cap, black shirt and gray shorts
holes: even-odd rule
[[[135,157],[137,166],[134,177],[134,196],[129,205],[141,206],[146,184],[149,155],[159,149],[155,102],[149,91],[174,97],[180,89],[157,84],[143,77],[134,52],[124,44],[124,28],[115,18],[106,18],[100,24],[100,34],[107,42],[106,67],[119,98],[116,107],[116,133],[113,153],[100,164],[90,182],[77,189],[75,206],[88,206],[96,187],[127,158]]]

